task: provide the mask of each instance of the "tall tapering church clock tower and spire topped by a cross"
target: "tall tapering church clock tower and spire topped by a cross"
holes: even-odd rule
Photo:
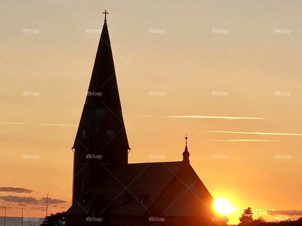
[[[73,148],[74,196],[101,177],[102,164],[127,164],[122,116],[109,32],[105,20]]]

